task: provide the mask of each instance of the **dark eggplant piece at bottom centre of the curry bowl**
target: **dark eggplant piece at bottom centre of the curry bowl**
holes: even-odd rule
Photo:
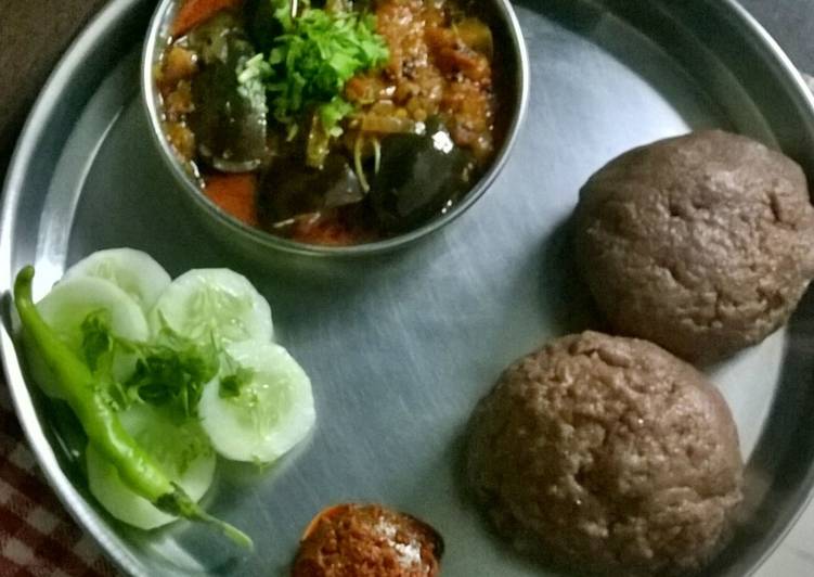
[[[322,169],[309,168],[298,157],[280,158],[260,182],[260,221],[273,229],[299,215],[348,206],[363,198],[359,178],[340,154],[328,155]]]

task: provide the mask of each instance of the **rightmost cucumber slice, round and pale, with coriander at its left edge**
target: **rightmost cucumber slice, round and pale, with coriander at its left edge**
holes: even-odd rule
[[[254,371],[237,397],[221,397],[220,380],[204,388],[198,414],[212,447],[235,461],[270,463],[302,440],[313,426],[311,381],[283,347],[235,343],[227,354]]]

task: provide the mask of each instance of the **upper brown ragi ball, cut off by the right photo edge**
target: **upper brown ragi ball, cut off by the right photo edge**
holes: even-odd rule
[[[814,278],[801,168],[720,130],[632,150],[580,191],[578,266],[615,332],[692,361],[760,343]]]

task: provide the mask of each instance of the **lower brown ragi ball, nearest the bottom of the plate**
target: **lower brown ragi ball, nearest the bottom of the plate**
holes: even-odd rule
[[[594,332],[506,369],[467,448],[469,483],[499,530],[616,575],[703,565],[731,533],[742,467],[729,409],[701,373],[651,343]]]

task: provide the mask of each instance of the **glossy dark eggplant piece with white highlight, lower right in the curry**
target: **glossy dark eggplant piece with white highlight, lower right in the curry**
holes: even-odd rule
[[[475,166],[473,155],[437,121],[424,134],[386,137],[370,191],[379,222],[403,232],[442,214],[469,190]]]

